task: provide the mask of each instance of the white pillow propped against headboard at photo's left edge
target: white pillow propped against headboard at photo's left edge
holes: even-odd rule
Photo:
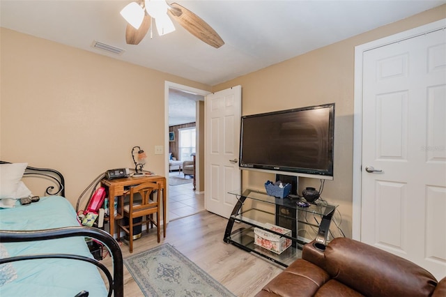
[[[28,163],[0,164],[0,199],[15,197],[26,166]]]

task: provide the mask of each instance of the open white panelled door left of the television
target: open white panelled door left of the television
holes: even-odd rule
[[[231,190],[240,188],[238,150],[242,87],[206,96],[205,103],[205,178],[204,199],[208,211],[229,218],[236,197]]]

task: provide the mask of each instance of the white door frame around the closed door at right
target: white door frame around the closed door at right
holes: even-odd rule
[[[446,28],[446,19],[425,24],[408,31],[387,36],[378,40],[358,45],[355,47],[355,87],[354,87],[354,112],[353,112],[353,216],[352,237],[361,241],[361,160],[362,160],[362,59],[364,52],[376,47],[383,47],[401,40],[420,36],[431,31]]]

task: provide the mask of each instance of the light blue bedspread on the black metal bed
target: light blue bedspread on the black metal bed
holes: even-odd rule
[[[17,202],[18,203],[18,202]],[[0,209],[0,229],[38,230],[79,226],[77,215],[63,197],[42,197],[29,206]],[[4,243],[10,256],[23,254],[79,254],[92,257],[83,237],[49,241]],[[96,266],[71,259],[36,259],[13,262],[17,278],[0,287],[0,296],[107,296]]]

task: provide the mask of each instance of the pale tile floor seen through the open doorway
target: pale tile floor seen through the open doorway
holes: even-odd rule
[[[184,177],[181,172],[169,172],[169,176]],[[204,211],[204,194],[196,194],[192,183],[169,185],[169,221]]]

